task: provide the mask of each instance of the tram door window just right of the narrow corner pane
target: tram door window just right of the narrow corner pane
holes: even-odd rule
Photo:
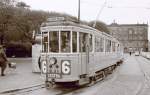
[[[88,34],[87,33],[80,33],[79,34],[79,51],[80,52],[86,52],[86,38],[87,38]]]

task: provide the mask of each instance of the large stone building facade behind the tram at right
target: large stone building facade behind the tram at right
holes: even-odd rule
[[[124,52],[148,51],[148,24],[108,25],[110,35],[124,46]]]

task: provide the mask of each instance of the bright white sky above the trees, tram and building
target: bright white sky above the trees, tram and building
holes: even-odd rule
[[[78,16],[78,0],[20,0],[31,9]],[[150,24],[150,0],[80,0],[81,20],[106,24]],[[106,3],[105,3],[106,2]],[[101,10],[101,12],[100,12]],[[99,14],[100,13],[100,14]],[[98,15],[99,14],[99,15]],[[149,28],[150,40],[150,28]]]

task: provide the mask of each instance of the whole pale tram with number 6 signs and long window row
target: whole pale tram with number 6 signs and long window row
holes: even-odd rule
[[[122,44],[112,36],[65,17],[41,25],[39,66],[46,85],[83,85],[104,78],[123,59]]]

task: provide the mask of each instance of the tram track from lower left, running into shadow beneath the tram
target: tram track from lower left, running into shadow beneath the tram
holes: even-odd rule
[[[112,76],[108,76],[108,77],[112,77]],[[3,92],[0,92],[0,95],[32,95],[32,93],[34,93],[34,91],[38,91],[38,90],[41,90],[41,89],[43,89],[43,90],[47,89],[50,92],[52,91],[52,92],[55,93],[54,95],[70,95],[70,93],[79,93],[79,92],[82,92],[86,88],[93,87],[97,83],[102,83],[102,82],[108,81],[110,79],[111,78],[108,78],[108,79],[106,78],[104,80],[97,81],[92,86],[88,86],[88,84],[87,85],[83,85],[83,86],[71,86],[71,87],[70,86],[68,86],[68,87],[63,87],[63,86],[58,86],[57,87],[56,86],[54,88],[47,89],[45,87],[45,84],[40,84],[40,85],[34,85],[34,86],[31,86],[31,87],[26,87],[26,88],[21,88],[21,89],[13,89],[13,90],[3,91]]]

